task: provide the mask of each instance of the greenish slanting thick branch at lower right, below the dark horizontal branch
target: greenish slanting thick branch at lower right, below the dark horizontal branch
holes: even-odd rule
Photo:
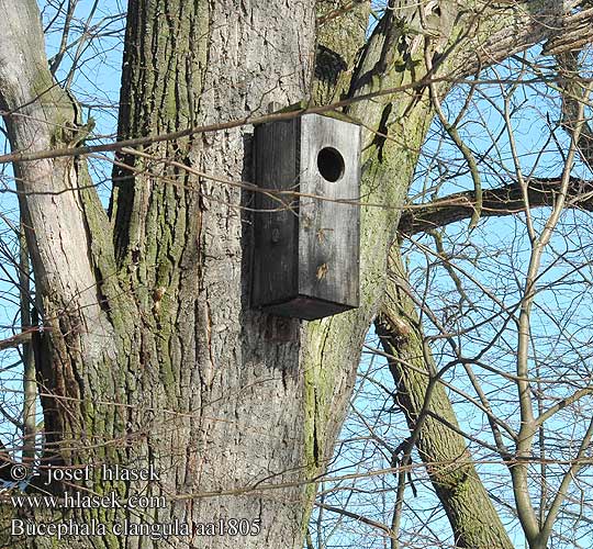
[[[447,513],[456,547],[510,549],[512,542],[475,471],[447,392],[436,378],[416,304],[403,290],[405,274],[396,246],[391,249],[390,268],[376,329],[398,388],[396,403],[416,437],[414,444]]]

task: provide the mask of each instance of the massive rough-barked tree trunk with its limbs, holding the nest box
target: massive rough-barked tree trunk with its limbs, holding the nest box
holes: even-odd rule
[[[250,197],[216,180],[250,179],[248,125],[123,150],[109,216],[82,157],[14,164],[43,296],[34,344],[44,464],[154,466],[159,482],[101,482],[97,473],[85,488],[168,501],[147,514],[76,509],[52,518],[178,519],[190,530],[166,541],[72,536],[60,547],[232,547],[234,537],[199,534],[204,522],[233,517],[261,520],[242,547],[301,546],[312,481],[346,413],[434,113],[424,86],[382,90],[421,81],[428,47],[433,76],[452,75],[437,86],[444,94],[456,77],[557,35],[563,22],[557,2],[390,2],[363,45],[368,2],[360,4],[347,15],[357,53],[336,35],[339,18],[317,29],[313,0],[131,0],[119,128],[121,138],[150,136],[248,119],[271,102],[378,93],[345,109],[367,127],[362,201],[382,206],[361,208],[357,311],[300,323],[249,307],[251,214],[242,206]],[[13,150],[76,147],[83,121],[51,76],[35,1],[0,0],[0,109]],[[42,536],[9,542],[53,547]]]

